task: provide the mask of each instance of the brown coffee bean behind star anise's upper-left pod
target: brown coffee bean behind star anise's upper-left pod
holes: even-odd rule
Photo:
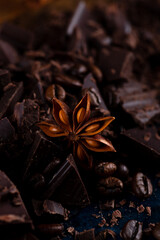
[[[66,98],[66,92],[60,85],[52,84],[46,89],[45,97],[49,102],[51,102],[54,97],[58,98],[61,101],[64,101]]]

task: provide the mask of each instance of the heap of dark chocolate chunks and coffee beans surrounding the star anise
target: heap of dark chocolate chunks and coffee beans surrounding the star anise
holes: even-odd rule
[[[29,30],[0,27],[1,239],[160,239],[160,218],[149,220],[160,186],[159,1],[43,14]],[[73,110],[86,93],[92,117],[116,118],[102,136],[117,152],[91,152],[91,169],[37,126],[54,121],[53,98]],[[80,232],[72,219],[90,203],[99,223]],[[126,204],[136,219],[123,217]]]

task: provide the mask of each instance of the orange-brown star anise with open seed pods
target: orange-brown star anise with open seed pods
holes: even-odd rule
[[[57,98],[53,98],[53,117],[57,124],[50,121],[38,123],[41,130],[50,137],[67,137],[73,143],[73,155],[81,165],[92,167],[92,157],[87,149],[94,152],[115,152],[112,143],[99,135],[113,120],[114,117],[90,117],[90,96],[87,93],[74,108],[69,107]]]

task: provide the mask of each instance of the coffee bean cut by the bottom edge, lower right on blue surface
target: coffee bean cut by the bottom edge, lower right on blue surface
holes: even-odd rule
[[[124,240],[141,240],[142,223],[139,223],[136,220],[129,220],[124,225],[120,235]]]

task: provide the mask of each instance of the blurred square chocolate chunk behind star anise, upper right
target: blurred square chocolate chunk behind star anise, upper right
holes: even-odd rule
[[[134,55],[119,48],[102,49],[99,67],[107,81],[129,79],[132,77]]]

